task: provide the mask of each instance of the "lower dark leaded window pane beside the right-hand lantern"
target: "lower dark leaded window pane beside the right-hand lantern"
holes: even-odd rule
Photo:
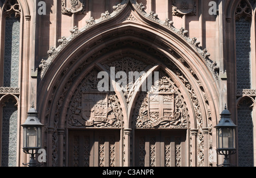
[[[238,113],[238,166],[253,167],[253,117],[252,101],[243,100]]]

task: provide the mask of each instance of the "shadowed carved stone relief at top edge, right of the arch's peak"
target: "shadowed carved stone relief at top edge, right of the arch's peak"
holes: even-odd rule
[[[195,15],[196,1],[195,0],[175,0],[172,1],[172,15]]]

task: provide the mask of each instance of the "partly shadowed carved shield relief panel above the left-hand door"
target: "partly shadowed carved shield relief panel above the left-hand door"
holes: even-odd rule
[[[113,92],[97,90],[98,71],[93,70],[79,86],[69,107],[68,127],[121,127],[122,113]]]

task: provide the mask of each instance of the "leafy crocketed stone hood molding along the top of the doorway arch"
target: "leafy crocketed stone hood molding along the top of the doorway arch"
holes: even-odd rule
[[[48,50],[49,57],[47,60],[42,60],[41,64],[39,65],[39,68],[41,69],[41,79],[43,79],[44,74],[46,73],[49,65],[51,65],[54,58],[57,56],[57,54],[60,53],[60,51],[65,48],[65,46],[68,45],[70,41],[75,39],[75,37],[79,36],[84,31],[96,26],[97,24],[106,22],[109,19],[113,19],[115,16],[117,16],[128,3],[131,3],[134,9],[147,18],[148,20],[151,20],[152,22],[158,23],[168,29],[170,29],[172,32],[175,32],[179,36],[181,36],[189,45],[193,46],[197,53],[200,54],[200,56],[205,60],[206,65],[208,66],[209,70],[212,71],[214,77],[216,79],[219,79],[219,67],[218,64],[215,61],[212,61],[209,59],[210,53],[207,49],[203,49],[201,46],[199,46],[200,41],[197,41],[196,37],[193,37],[192,39],[188,37],[188,31],[184,28],[177,29],[173,26],[174,22],[170,21],[170,19],[166,19],[164,21],[160,20],[158,18],[158,15],[155,14],[155,12],[151,11],[150,14],[147,14],[146,11],[144,11],[145,7],[143,6],[143,3],[138,3],[135,0],[123,0],[121,3],[119,3],[117,6],[113,6],[114,11],[110,14],[108,11],[101,14],[101,18],[94,19],[91,17],[90,19],[86,20],[86,26],[82,29],[78,29],[76,26],[73,27],[73,29],[70,30],[71,36],[69,37],[61,37],[61,39],[58,40],[60,45],[55,48],[51,47],[50,50]],[[136,19],[133,16],[126,16],[125,19],[123,19],[121,22],[126,20],[133,20],[136,22]]]

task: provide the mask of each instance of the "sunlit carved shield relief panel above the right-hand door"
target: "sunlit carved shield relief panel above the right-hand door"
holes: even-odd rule
[[[161,72],[158,89],[142,92],[139,96],[133,115],[134,128],[187,128],[183,96],[166,76]]]

